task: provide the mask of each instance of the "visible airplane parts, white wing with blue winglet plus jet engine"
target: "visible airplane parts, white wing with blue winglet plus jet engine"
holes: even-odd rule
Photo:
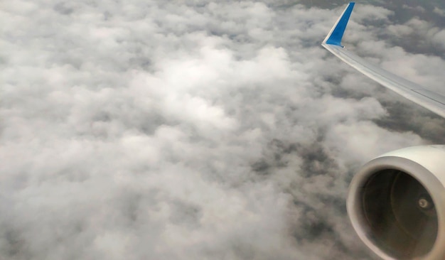
[[[348,51],[350,2],[321,44],[372,80],[445,118],[445,97]],[[346,207],[358,237],[382,259],[445,259],[445,145],[390,151],[351,180]]]

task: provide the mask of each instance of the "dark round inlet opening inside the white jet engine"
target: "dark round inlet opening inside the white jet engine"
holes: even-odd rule
[[[370,176],[360,197],[370,239],[389,256],[411,259],[434,246],[436,208],[416,178],[400,170],[380,170]]]

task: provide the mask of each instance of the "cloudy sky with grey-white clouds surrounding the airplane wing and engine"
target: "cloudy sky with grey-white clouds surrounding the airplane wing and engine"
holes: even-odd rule
[[[348,49],[444,94],[445,4],[358,1]],[[445,121],[321,41],[346,1],[9,1],[4,259],[376,259],[363,163]]]

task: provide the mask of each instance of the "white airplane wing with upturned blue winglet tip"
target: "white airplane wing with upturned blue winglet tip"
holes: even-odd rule
[[[341,38],[343,38],[343,33],[348,24],[350,13],[353,11],[354,4],[354,2],[348,4],[345,11],[343,11],[340,18],[338,18],[336,24],[334,24],[321,45],[333,53],[333,55],[336,55],[345,63],[348,63],[351,67],[355,68],[355,70],[362,72],[372,80],[375,80],[397,94],[402,95],[402,97],[405,97],[445,118],[445,97],[443,95],[427,90],[414,82],[405,80],[387,70],[383,70],[381,67],[373,65],[372,63],[363,60],[363,58],[350,53],[341,45]]]

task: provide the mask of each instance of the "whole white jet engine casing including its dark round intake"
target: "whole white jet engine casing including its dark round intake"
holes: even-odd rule
[[[445,146],[414,146],[366,163],[348,215],[382,259],[445,259]]]

